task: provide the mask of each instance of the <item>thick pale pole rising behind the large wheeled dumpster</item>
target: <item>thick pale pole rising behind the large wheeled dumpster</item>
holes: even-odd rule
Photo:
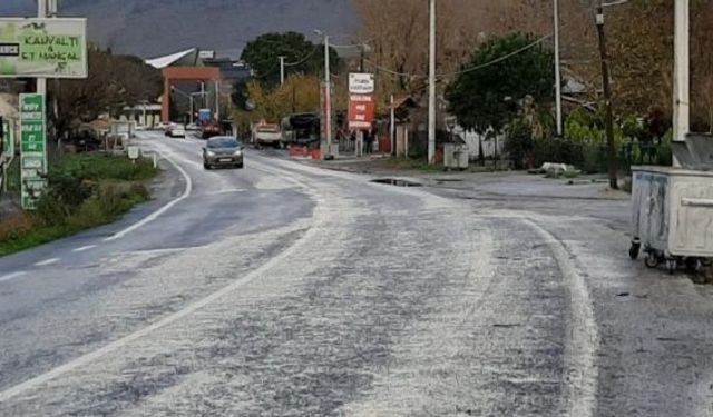
[[[675,1],[673,140],[685,140],[691,131],[691,8],[688,0]],[[681,162],[674,157],[674,166]]]

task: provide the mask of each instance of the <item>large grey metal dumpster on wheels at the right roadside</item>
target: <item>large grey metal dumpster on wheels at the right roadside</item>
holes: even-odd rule
[[[671,274],[713,259],[713,170],[691,155],[680,160],[695,163],[633,168],[629,256],[636,259],[643,248],[647,267],[665,262]]]

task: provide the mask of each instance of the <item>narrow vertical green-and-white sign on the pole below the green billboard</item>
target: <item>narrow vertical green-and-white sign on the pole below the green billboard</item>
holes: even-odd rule
[[[20,168],[22,208],[33,210],[47,187],[45,95],[20,95]]]

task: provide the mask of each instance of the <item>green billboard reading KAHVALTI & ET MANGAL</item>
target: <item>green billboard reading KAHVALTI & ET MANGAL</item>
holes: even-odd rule
[[[0,77],[86,78],[86,19],[0,19]]]

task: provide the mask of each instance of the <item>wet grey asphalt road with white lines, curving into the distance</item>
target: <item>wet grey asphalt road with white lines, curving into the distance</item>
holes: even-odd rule
[[[627,259],[625,202],[140,142],[155,201],[0,259],[0,415],[713,415],[713,295]]]

